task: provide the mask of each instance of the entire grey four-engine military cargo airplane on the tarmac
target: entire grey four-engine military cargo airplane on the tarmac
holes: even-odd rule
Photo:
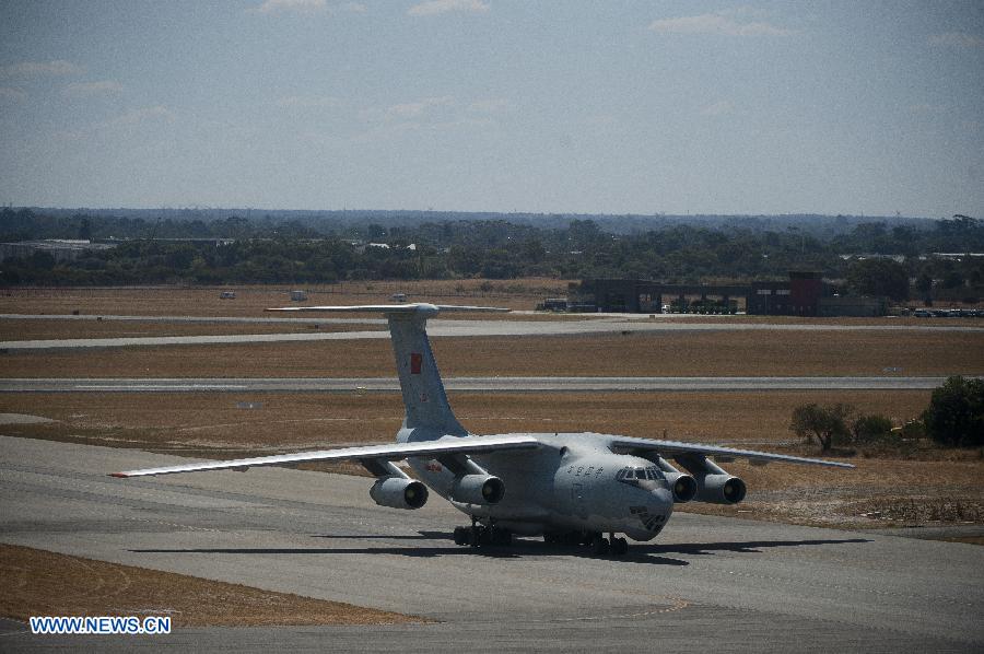
[[[144,477],[256,466],[355,460],[376,477],[368,494],[380,506],[415,510],[429,489],[471,518],[454,530],[459,546],[505,546],[513,536],[590,546],[595,556],[624,556],[623,534],[655,538],[673,505],[690,501],[737,504],[745,482],[708,457],[853,468],[850,464],[699,443],[613,434],[511,433],[475,435],[455,418],[427,338],[427,319],[449,312],[506,312],[427,303],[296,306],[280,312],[380,313],[387,318],[406,409],[394,444],[341,447],[236,460],[114,472]],[[673,463],[670,463],[672,459]],[[406,460],[415,478],[397,462]],[[683,468],[680,470],[677,468]],[[606,537],[608,534],[608,537]]]

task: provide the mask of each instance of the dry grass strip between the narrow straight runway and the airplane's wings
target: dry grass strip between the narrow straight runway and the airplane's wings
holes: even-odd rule
[[[901,422],[917,416],[929,393],[610,393],[449,395],[472,432],[597,431],[640,437],[775,447],[795,441],[793,408],[846,401]],[[250,402],[258,408],[238,408]],[[402,420],[395,393],[380,394],[8,394],[0,412],[55,422],[7,424],[8,435],[79,440],[159,452],[243,452],[391,441]],[[225,454],[223,454],[225,453]]]

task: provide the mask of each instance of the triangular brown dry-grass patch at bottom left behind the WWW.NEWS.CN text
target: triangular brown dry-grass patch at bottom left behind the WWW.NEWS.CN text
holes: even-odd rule
[[[0,615],[169,617],[172,629],[427,622],[340,602],[0,544]]]

